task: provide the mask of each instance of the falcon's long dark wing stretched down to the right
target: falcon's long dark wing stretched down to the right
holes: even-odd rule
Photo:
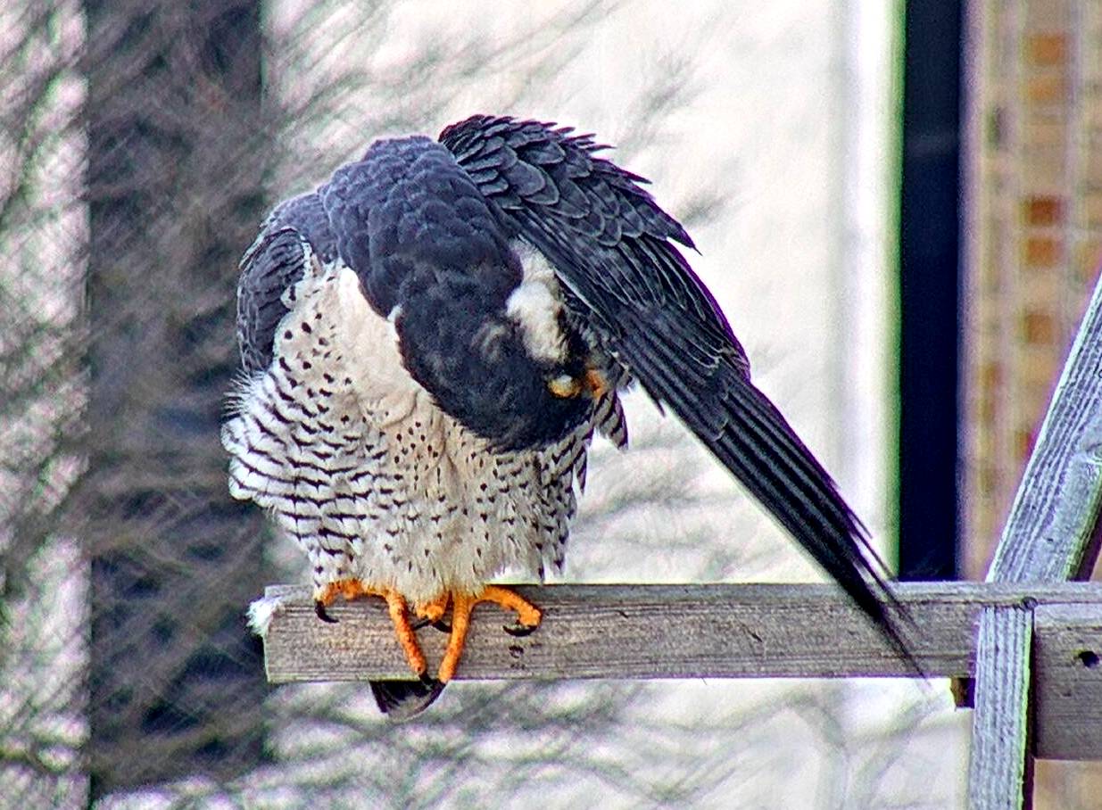
[[[715,300],[678,248],[684,229],[596,156],[591,136],[476,116],[441,133],[503,223],[547,256],[570,305],[903,649],[890,591],[834,483],[749,379]]]

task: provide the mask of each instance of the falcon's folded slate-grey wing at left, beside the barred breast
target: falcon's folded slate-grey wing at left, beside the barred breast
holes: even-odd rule
[[[277,206],[241,257],[237,344],[246,374],[271,365],[276,327],[288,312],[283,293],[303,277],[311,253],[328,262],[336,248],[321,201],[304,194]]]

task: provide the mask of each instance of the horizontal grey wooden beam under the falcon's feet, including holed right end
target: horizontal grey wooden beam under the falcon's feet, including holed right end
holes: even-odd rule
[[[523,638],[495,607],[475,613],[458,679],[914,677],[860,611],[829,585],[552,585],[518,591],[543,609]],[[928,677],[975,671],[984,608],[1044,615],[1035,631],[1037,754],[1102,758],[1102,585],[908,583],[908,642]],[[1042,613],[1044,611],[1044,613]],[[269,587],[253,607],[264,626],[268,678],[355,681],[408,677],[381,600],[314,615],[310,588]],[[1073,619],[1073,622],[1072,622]],[[418,637],[439,661],[446,637]],[[1048,717],[1059,719],[1062,728]],[[1083,722],[1079,722],[1082,720]]]

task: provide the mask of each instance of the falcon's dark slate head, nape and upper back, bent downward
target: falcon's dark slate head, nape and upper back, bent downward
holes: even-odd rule
[[[528,355],[506,311],[520,260],[451,152],[419,136],[377,141],[318,196],[341,261],[393,316],[406,370],[445,413],[498,450],[553,444],[585,420],[582,398],[545,384],[581,374],[582,358]]]

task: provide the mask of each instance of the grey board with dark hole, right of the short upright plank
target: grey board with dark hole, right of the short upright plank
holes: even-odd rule
[[[1041,605],[1034,617],[1038,756],[1102,759],[1102,613]]]

